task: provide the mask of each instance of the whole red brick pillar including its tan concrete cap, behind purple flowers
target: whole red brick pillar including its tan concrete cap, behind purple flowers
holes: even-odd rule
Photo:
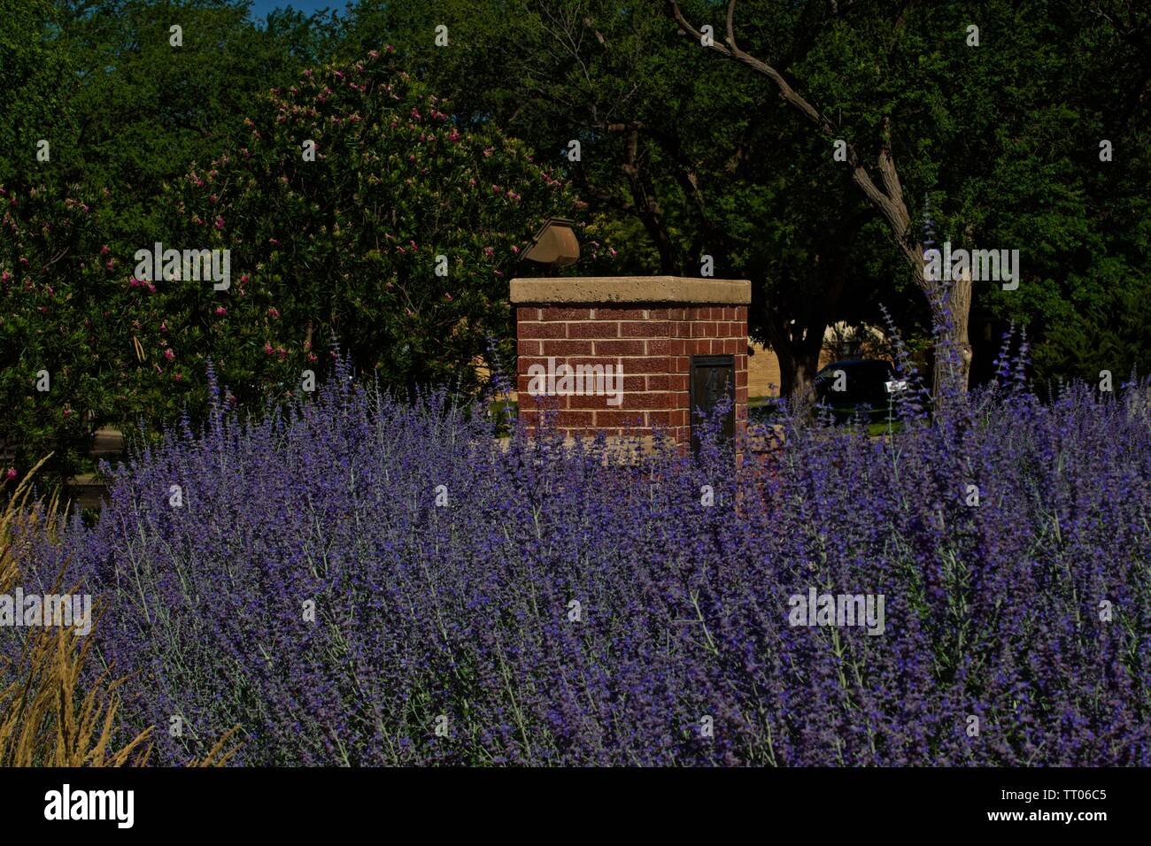
[[[650,435],[691,437],[689,384],[696,367],[732,366],[734,428],[747,424],[746,280],[679,276],[516,279],[511,303],[518,338],[519,413],[532,426],[540,409],[556,409],[556,427],[572,437]],[[711,357],[711,358],[703,358]],[[552,359],[549,363],[549,359]],[[623,394],[551,391],[540,396],[534,373],[562,365],[619,367]],[[708,373],[709,371],[702,371]],[[726,371],[716,371],[726,379]],[[533,384],[535,390],[533,390]],[[558,381],[557,381],[558,384]],[[698,381],[700,394],[703,381]],[[533,396],[536,395],[536,396]],[[538,404],[538,399],[542,401]],[[699,403],[696,403],[699,405]]]

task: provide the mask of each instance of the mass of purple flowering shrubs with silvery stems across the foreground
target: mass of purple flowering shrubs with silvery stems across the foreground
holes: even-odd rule
[[[344,373],[170,432],[24,555],[106,600],[162,763],[239,724],[247,764],[1148,765],[1146,390],[785,420],[737,474],[715,443],[501,447]],[[811,588],[883,594],[882,633],[792,625]]]

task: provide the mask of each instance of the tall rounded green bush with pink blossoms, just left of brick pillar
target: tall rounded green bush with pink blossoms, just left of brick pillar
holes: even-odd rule
[[[274,90],[170,201],[180,246],[230,250],[233,276],[169,288],[171,346],[189,373],[211,357],[241,403],[291,392],[333,344],[389,387],[477,387],[489,337],[512,352],[519,253],[576,208],[519,143],[457,125],[387,54]]]

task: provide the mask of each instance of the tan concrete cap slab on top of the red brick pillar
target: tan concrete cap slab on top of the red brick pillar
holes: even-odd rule
[[[748,305],[752,283],[746,279],[693,276],[550,276],[513,279],[511,302],[554,303],[706,303]]]

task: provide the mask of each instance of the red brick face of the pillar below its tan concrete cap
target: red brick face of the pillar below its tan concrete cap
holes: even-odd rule
[[[539,409],[557,410],[556,427],[569,436],[650,435],[653,427],[680,443],[689,439],[688,378],[693,355],[731,355],[735,363],[735,426],[747,424],[747,306],[641,307],[520,306],[516,310],[519,413],[529,425]],[[528,367],[622,365],[624,398],[528,394]],[[538,406],[536,401],[542,401]]]

